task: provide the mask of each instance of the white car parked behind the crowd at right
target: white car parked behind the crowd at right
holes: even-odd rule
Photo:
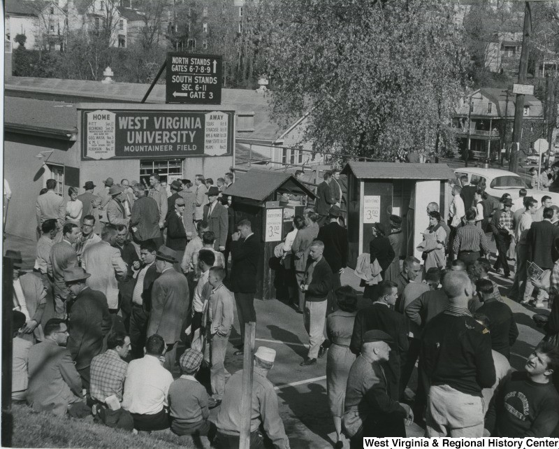
[[[516,173],[499,169],[480,169],[478,167],[463,167],[455,169],[456,178],[467,176],[468,183],[477,180],[479,183],[485,183],[485,191],[491,196],[500,199],[503,194],[508,193],[511,198],[517,199],[520,195],[518,191],[521,189],[528,190],[528,197],[534,197],[538,202],[542,201],[542,197],[547,195],[553,200],[553,204],[559,206],[559,193],[544,192],[542,190],[529,189],[523,178]]]

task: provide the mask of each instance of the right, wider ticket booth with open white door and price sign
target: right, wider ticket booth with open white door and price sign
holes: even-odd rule
[[[398,164],[395,162],[349,162],[347,175],[347,231],[349,266],[358,255],[369,252],[371,227],[389,224],[391,214],[402,218],[404,244],[400,257],[414,255],[428,227],[427,205],[435,202],[444,214],[445,184],[454,178],[447,164]]]

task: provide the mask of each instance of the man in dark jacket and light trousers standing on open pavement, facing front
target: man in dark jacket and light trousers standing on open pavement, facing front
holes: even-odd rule
[[[332,290],[332,270],[323,257],[324,243],[315,240],[310,246],[312,262],[307,264],[305,279],[299,285],[305,292],[305,311],[303,320],[305,330],[309,334],[309,353],[300,366],[314,365],[317,357],[322,357],[326,348],[324,343],[324,321],[326,320],[326,307],[328,293]]]

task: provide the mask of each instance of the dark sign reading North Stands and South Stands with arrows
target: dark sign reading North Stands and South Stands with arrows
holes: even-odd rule
[[[221,104],[222,57],[168,52],[166,103]]]

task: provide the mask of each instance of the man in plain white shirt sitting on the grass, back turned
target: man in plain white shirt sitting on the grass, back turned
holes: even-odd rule
[[[165,350],[163,337],[153,334],[145,343],[144,357],[132,360],[126,370],[122,408],[131,413],[136,430],[169,427],[167,396],[173,376],[161,366]]]

